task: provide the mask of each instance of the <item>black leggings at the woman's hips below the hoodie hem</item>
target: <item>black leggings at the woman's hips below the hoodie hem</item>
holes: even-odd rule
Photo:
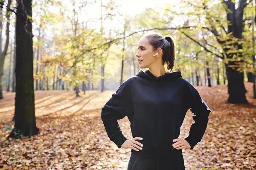
[[[169,156],[150,158],[131,153],[127,170],[185,170],[182,153]]]

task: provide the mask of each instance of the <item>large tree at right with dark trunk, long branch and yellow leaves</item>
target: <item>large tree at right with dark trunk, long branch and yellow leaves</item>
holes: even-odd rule
[[[244,50],[241,38],[244,29],[244,8],[250,2],[251,0],[249,2],[239,0],[238,8],[235,8],[236,4],[233,0],[221,0],[220,3],[224,8],[226,18],[222,17],[223,11],[218,10],[221,7],[220,4],[212,3],[209,0],[184,2],[194,8],[194,12],[189,12],[189,18],[199,18],[200,24],[194,26],[194,28],[211,33],[216,41],[207,36],[207,40],[204,37],[201,39],[204,42],[202,43],[191,36],[189,31],[183,30],[181,32],[225,63],[229,93],[227,102],[230,103],[247,103],[243,73],[245,57],[243,56]]]

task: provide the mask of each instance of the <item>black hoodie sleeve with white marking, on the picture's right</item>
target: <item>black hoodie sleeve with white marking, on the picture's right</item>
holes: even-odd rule
[[[190,83],[188,83],[187,95],[187,103],[193,113],[192,118],[194,121],[190,126],[189,136],[185,140],[190,144],[190,150],[192,150],[198,142],[201,142],[208,124],[209,113],[212,111]]]

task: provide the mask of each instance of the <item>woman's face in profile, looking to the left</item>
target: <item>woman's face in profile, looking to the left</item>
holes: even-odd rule
[[[157,50],[153,51],[153,47],[149,44],[148,39],[143,37],[139,41],[138,52],[135,55],[138,57],[140,68],[149,68],[153,63],[155,63],[156,59],[159,57],[158,54],[153,57],[156,53]]]

